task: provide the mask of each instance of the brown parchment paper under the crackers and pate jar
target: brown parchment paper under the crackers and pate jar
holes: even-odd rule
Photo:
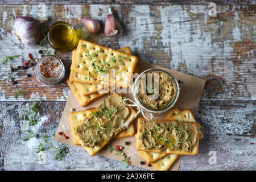
[[[146,69],[150,69],[150,68],[164,69],[164,70],[170,72],[171,75],[176,78],[176,80],[180,80],[180,84],[179,84],[180,85],[180,96],[175,104],[175,107],[178,107],[180,110],[190,109],[192,111],[193,115],[194,116],[196,115],[196,110],[197,110],[197,107],[199,106],[201,95],[204,90],[205,80],[203,80],[201,78],[197,78],[195,76],[185,74],[185,73],[181,73],[181,72],[177,72],[177,71],[174,71],[171,69],[160,67],[158,65],[150,64],[145,61],[138,61],[137,65],[141,72],[143,72]],[[102,100],[104,100],[104,98],[106,98],[108,96],[109,96],[109,94],[106,94],[106,96],[99,98],[98,100],[94,101],[92,104],[89,104],[85,107],[81,107],[78,104],[78,102],[76,101],[76,98],[73,95],[73,93],[70,92],[69,96],[68,96],[67,104],[65,105],[65,108],[63,111],[63,115],[60,118],[59,126],[57,127],[55,140],[57,140],[61,143],[68,144],[70,146],[81,148],[82,150],[84,150],[84,148],[82,148],[82,146],[73,144],[73,138],[71,135],[72,129],[71,129],[71,126],[69,123],[69,113],[72,111],[72,109],[75,109],[75,111],[81,111],[81,110],[95,108],[98,105],[100,105],[100,102]],[[127,98],[132,99],[132,95],[129,93],[122,94],[122,96],[127,96]],[[161,114],[161,115],[154,114],[154,119],[164,119],[167,116],[167,114],[168,114],[168,112]],[[139,114],[138,117],[142,117],[142,115]],[[137,126],[137,119],[135,119],[134,122],[136,124],[135,126]],[[63,136],[58,135],[57,133],[59,133],[59,131],[65,133],[65,135],[67,135],[69,137],[69,139],[65,139]],[[125,142],[129,142],[130,144],[126,146]],[[144,161],[144,159],[142,159],[138,155],[138,151],[135,150],[135,144],[136,144],[136,139],[133,136],[133,137],[113,139],[112,141],[109,142],[108,145],[112,145],[113,147],[115,147],[117,145],[124,147],[122,151],[127,155],[127,157],[130,156],[132,165],[146,168],[149,170],[156,170],[152,166],[148,167],[147,164],[143,164],[143,165],[139,164],[139,162]],[[199,150],[200,150],[200,148],[199,148]],[[104,150],[104,148],[102,148],[102,150],[100,152],[98,152],[98,154],[96,154],[96,155],[102,155],[102,156],[106,156],[108,158],[122,161],[121,156],[115,155],[114,151],[109,152],[109,150]],[[91,156],[89,156],[89,157],[91,157]],[[93,157],[91,157],[91,158],[93,158]],[[179,158],[177,158],[176,162],[174,164],[172,164],[172,167],[170,168],[171,171],[179,169],[181,158],[182,158],[182,156],[179,156]],[[124,169],[125,169],[125,165],[126,164],[124,163],[123,164]]]

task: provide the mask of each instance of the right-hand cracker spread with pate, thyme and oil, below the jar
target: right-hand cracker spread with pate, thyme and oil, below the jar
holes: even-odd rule
[[[138,119],[137,150],[196,155],[200,124],[168,120]]]

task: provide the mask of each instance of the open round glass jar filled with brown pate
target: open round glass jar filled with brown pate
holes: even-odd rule
[[[177,80],[163,69],[147,69],[134,81],[134,101],[148,113],[162,114],[174,107],[180,94]]]

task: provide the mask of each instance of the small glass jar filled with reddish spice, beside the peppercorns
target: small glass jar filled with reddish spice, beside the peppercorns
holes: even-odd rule
[[[36,64],[36,76],[47,85],[58,84],[65,75],[65,67],[59,57],[43,56]]]

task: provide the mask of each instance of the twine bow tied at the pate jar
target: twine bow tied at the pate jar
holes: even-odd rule
[[[126,101],[129,101],[131,104],[127,104]],[[141,113],[143,115],[143,117],[145,119],[147,119],[148,121],[151,121],[153,119],[153,115],[151,113],[147,113],[145,112],[136,102],[134,102],[133,100],[131,100],[130,98],[125,98],[123,100],[123,104],[127,105],[127,106],[131,106],[131,107],[137,107],[137,113],[133,115],[133,117],[131,117],[128,121],[126,121],[125,123],[123,123],[123,125],[121,126],[122,129],[125,129],[126,127],[128,127],[128,125],[133,121],[134,118],[137,117],[137,115],[139,113]],[[149,115],[149,118],[146,116],[146,114]]]

